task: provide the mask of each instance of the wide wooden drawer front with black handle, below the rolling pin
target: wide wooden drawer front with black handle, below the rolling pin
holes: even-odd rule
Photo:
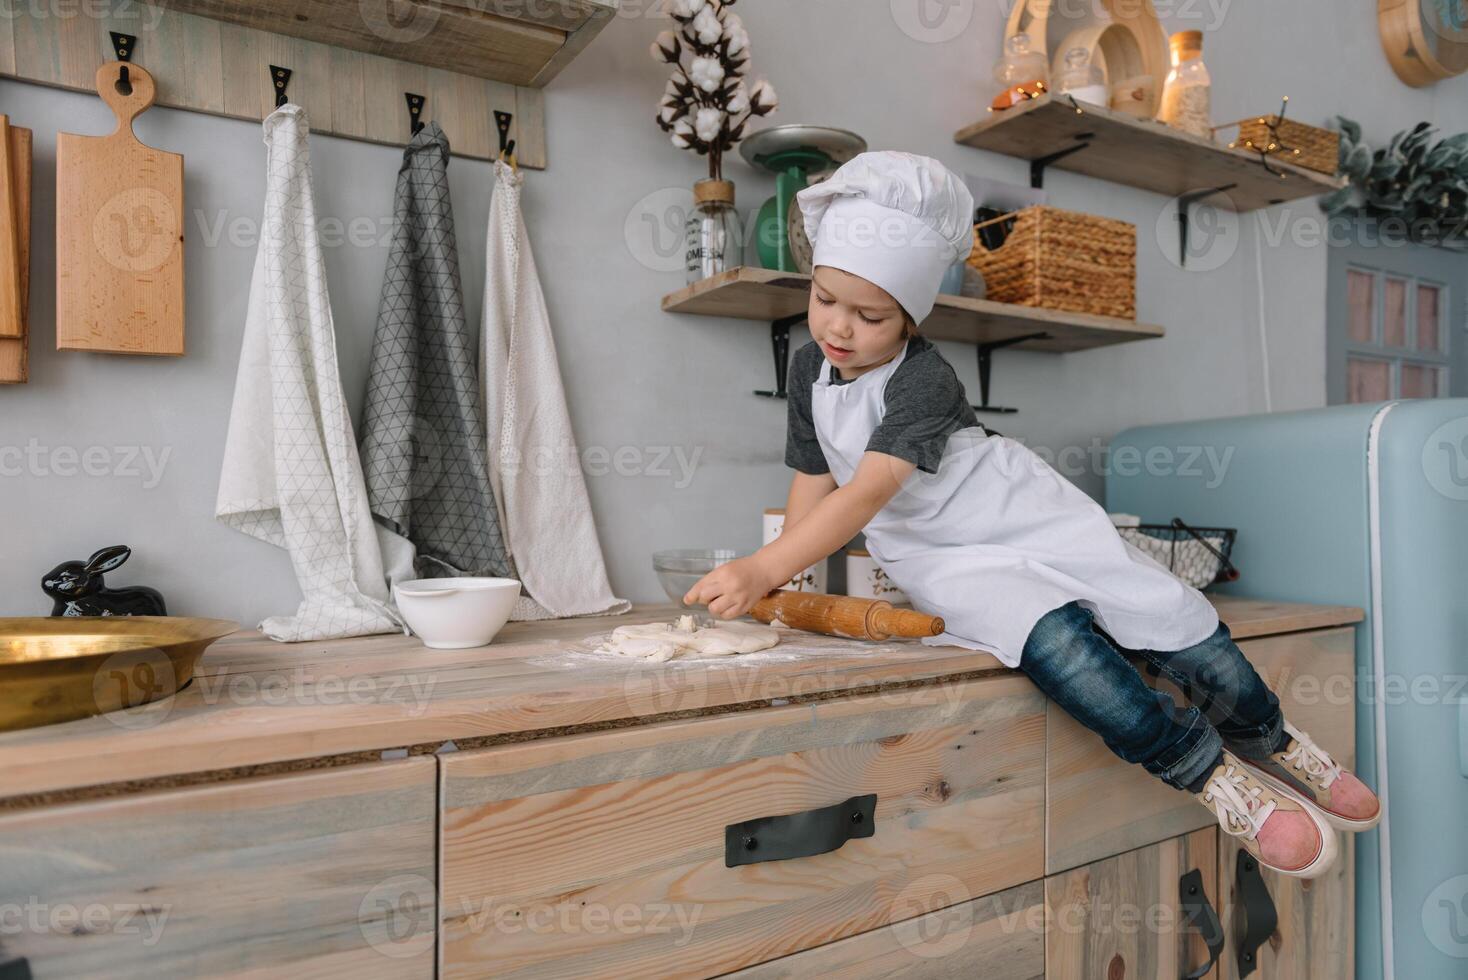
[[[446,977],[709,977],[1041,876],[1022,676],[442,758]],[[876,795],[875,833],[725,866],[725,827]]]

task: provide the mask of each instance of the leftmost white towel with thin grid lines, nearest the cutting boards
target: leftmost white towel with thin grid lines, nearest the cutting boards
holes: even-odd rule
[[[272,640],[402,629],[342,398],[305,110],[264,120],[266,207],[214,516],[291,553],[302,600]]]

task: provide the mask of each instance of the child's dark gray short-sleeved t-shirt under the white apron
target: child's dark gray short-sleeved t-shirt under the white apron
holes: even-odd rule
[[[790,364],[785,465],[800,472],[831,472],[810,412],[810,386],[821,379],[824,361],[821,345],[812,340],[796,351]],[[831,368],[832,384],[853,380],[841,379],[835,367]],[[887,412],[866,450],[906,459],[923,472],[938,472],[948,436],[979,424],[953,365],[926,337],[907,342],[907,356],[887,379],[884,398]]]

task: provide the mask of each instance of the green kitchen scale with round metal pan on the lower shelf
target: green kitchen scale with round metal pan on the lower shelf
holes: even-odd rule
[[[740,144],[746,163],[775,175],[775,197],[765,201],[755,222],[760,266],[810,271],[810,241],[794,197],[865,151],[866,141],[854,132],[800,123],[760,129]]]

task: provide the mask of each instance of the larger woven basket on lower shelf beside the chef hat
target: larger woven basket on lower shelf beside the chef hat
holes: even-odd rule
[[[1004,244],[989,251],[975,232],[969,255],[986,299],[1136,318],[1136,226],[1044,205],[1006,217],[1014,226]]]

